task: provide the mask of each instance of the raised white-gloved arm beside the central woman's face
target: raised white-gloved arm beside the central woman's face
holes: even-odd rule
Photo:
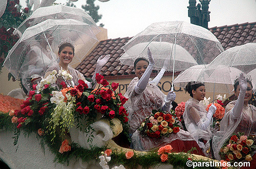
[[[148,79],[150,79],[150,75],[155,65],[155,61],[154,61],[154,58],[152,57],[150,48],[147,48],[147,57],[150,64],[147,66],[145,72],[143,73],[143,75],[141,76],[137,85],[134,88],[134,91],[136,94],[141,94],[145,90],[146,85],[148,83]]]

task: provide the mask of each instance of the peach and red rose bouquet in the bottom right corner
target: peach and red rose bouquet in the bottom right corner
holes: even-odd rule
[[[231,163],[237,161],[251,161],[252,152],[256,150],[255,137],[256,135],[249,135],[238,132],[227,139],[227,142],[222,146],[219,154],[223,160]]]

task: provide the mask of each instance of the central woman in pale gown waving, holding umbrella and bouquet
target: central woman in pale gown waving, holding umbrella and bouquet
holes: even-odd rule
[[[134,69],[137,77],[130,82],[124,94],[125,97],[129,98],[124,106],[127,108],[127,112],[129,112],[130,135],[132,138],[131,147],[139,151],[150,151],[156,147],[170,144],[174,148],[172,152],[187,152],[192,147],[196,147],[198,151],[193,153],[203,155],[194,138],[182,129],[176,134],[162,138],[142,136],[137,130],[143,120],[150,116],[153,109],[169,111],[172,108],[172,101],[176,98],[176,94],[171,91],[164,99],[165,95],[157,86],[165,71],[164,68],[157,77],[149,81],[155,62],[150,49],[148,49],[147,54],[149,62],[144,58],[135,60]]]

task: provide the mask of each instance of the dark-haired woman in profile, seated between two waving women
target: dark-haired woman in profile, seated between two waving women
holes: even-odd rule
[[[183,120],[187,131],[193,135],[200,148],[210,139],[212,133],[210,124],[212,115],[215,114],[216,106],[212,104],[209,111],[206,106],[199,103],[205,97],[205,86],[202,82],[191,81],[186,85],[185,91],[192,97],[185,104]]]

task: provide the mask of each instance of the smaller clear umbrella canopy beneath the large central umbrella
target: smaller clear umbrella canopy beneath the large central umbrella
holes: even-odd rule
[[[171,56],[172,55],[172,49],[174,47],[173,43],[169,42],[155,42],[152,41],[148,44],[148,42],[142,42],[139,44],[136,44],[129,48],[119,59],[120,62],[124,65],[133,65],[136,58],[147,57],[147,50],[145,50],[145,46],[149,47],[151,49],[151,52],[153,53],[153,57],[155,60],[155,65],[158,66],[157,68],[161,69],[159,65],[164,65],[164,62],[167,61],[168,66],[166,67],[167,70],[173,69],[173,60],[171,60],[171,57],[163,58],[163,55]],[[191,56],[191,54],[181,47],[180,45],[176,45],[176,61],[175,67],[177,68],[177,71],[184,70],[184,68],[189,68],[194,65],[198,65],[196,60]]]

